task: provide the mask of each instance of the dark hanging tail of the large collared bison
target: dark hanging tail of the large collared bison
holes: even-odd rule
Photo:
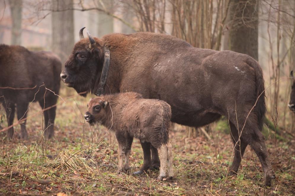
[[[266,104],[265,104],[265,89],[264,89],[264,79],[262,69],[257,61],[253,58],[248,58],[246,62],[255,70],[255,86],[256,86],[256,106],[254,110],[257,114],[257,121],[259,125],[259,130],[263,128],[263,119],[266,113]],[[257,100],[258,99],[258,100]]]

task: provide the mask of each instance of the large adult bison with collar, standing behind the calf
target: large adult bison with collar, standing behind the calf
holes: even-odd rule
[[[144,98],[164,100],[171,105],[172,122],[192,127],[207,125],[222,115],[228,117],[234,144],[237,142],[230,173],[237,173],[241,156],[250,145],[262,164],[266,184],[271,184],[275,175],[261,133],[266,112],[264,79],[253,58],[233,51],[194,48],[176,37],[150,32],[116,33],[99,39],[87,31],[88,39],[83,29],[60,75],[65,85],[78,93],[96,92],[96,80],[105,74],[102,68],[108,55],[104,53],[109,50],[105,93],[134,91]],[[144,163],[137,174],[159,166],[157,150],[152,147],[150,151],[146,142],[141,145]]]

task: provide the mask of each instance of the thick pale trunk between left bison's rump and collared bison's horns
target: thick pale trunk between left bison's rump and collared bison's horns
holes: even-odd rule
[[[52,9],[52,51],[64,65],[75,43],[73,0],[52,0]]]

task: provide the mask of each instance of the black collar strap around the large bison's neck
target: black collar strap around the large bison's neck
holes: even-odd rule
[[[102,72],[100,76],[100,81],[97,87],[96,96],[100,96],[104,93],[105,82],[107,81],[108,71],[110,67],[110,49],[104,47],[105,50],[105,58],[103,61]],[[97,78],[98,81],[98,78]],[[97,82],[96,82],[97,83]]]

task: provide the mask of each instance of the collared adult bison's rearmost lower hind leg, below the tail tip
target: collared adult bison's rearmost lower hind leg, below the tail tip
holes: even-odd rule
[[[255,151],[255,153],[258,156],[259,161],[262,165],[262,169],[264,172],[265,185],[270,187],[271,180],[275,179],[275,174],[272,170],[272,166],[271,166],[270,161],[267,157],[267,150],[266,150],[264,140],[265,140],[265,138],[262,135],[262,133],[259,130],[257,130],[255,132],[255,135],[253,135],[253,137],[251,138],[250,146]]]

